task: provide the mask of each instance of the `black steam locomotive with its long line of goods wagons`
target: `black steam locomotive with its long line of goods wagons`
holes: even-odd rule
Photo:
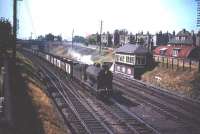
[[[63,57],[55,56],[49,53],[31,50],[34,55],[38,55],[40,58],[52,63],[64,72],[66,72],[70,77],[86,77],[84,80],[92,85],[93,89],[97,94],[112,94],[112,73],[106,73],[102,67],[97,67],[96,65],[79,65],[76,62],[66,59]],[[78,67],[77,67],[78,66]],[[75,71],[73,71],[75,70]],[[76,73],[75,73],[76,72]],[[81,76],[78,76],[79,72]],[[100,73],[101,72],[101,73]],[[102,75],[103,73],[103,75]],[[103,78],[102,78],[103,77]],[[101,83],[101,84],[100,84]]]

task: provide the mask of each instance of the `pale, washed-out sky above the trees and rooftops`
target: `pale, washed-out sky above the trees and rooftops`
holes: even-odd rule
[[[18,2],[18,38],[47,33],[71,38],[100,31],[137,33],[197,30],[195,0],[22,0]],[[0,0],[0,17],[12,21],[12,0]]]

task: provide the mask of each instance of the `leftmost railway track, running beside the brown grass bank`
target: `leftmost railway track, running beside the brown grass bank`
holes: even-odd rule
[[[37,61],[37,63],[39,62]],[[44,66],[40,66],[40,70],[47,79],[47,90],[55,100],[65,120],[72,125],[75,133],[113,134],[99,117],[88,108],[84,100],[75,94],[53,72]]]

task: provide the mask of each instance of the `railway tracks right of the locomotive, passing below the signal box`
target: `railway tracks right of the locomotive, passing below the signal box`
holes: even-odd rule
[[[185,127],[192,127],[192,130],[200,131],[198,118],[200,109],[197,103],[191,103],[183,98],[179,99],[171,94],[168,95],[134,80],[124,79],[123,77],[114,77],[114,83],[119,89],[123,87],[123,91],[121,91],[126,95],[137,98],[140,102],[153,107],[176,122],[187,124]]]

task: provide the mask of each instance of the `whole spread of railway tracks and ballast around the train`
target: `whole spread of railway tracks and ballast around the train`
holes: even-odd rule
[[[78,77],[79,72],[76,71],[77,76],[74,75],[73,78],[68,77],[56,66],[38,57],[30,54],[29,56],[27,54],[27,57],[40,66],[50,95],[66,123],[76,130],[76,133],[198,134],[200,132],[197,118],[198,102],[117,75],[114,75],[113,89],[121,94],[115,94],[110,98],[97,98],[89,92],[91,87]],[[158,118],[151,117],[152,113],[155,117],[164,118],[162,122]],[[92,123],[87,122],[87,119],[92,120]],[[93,122],[96,123],[93,125]]]

